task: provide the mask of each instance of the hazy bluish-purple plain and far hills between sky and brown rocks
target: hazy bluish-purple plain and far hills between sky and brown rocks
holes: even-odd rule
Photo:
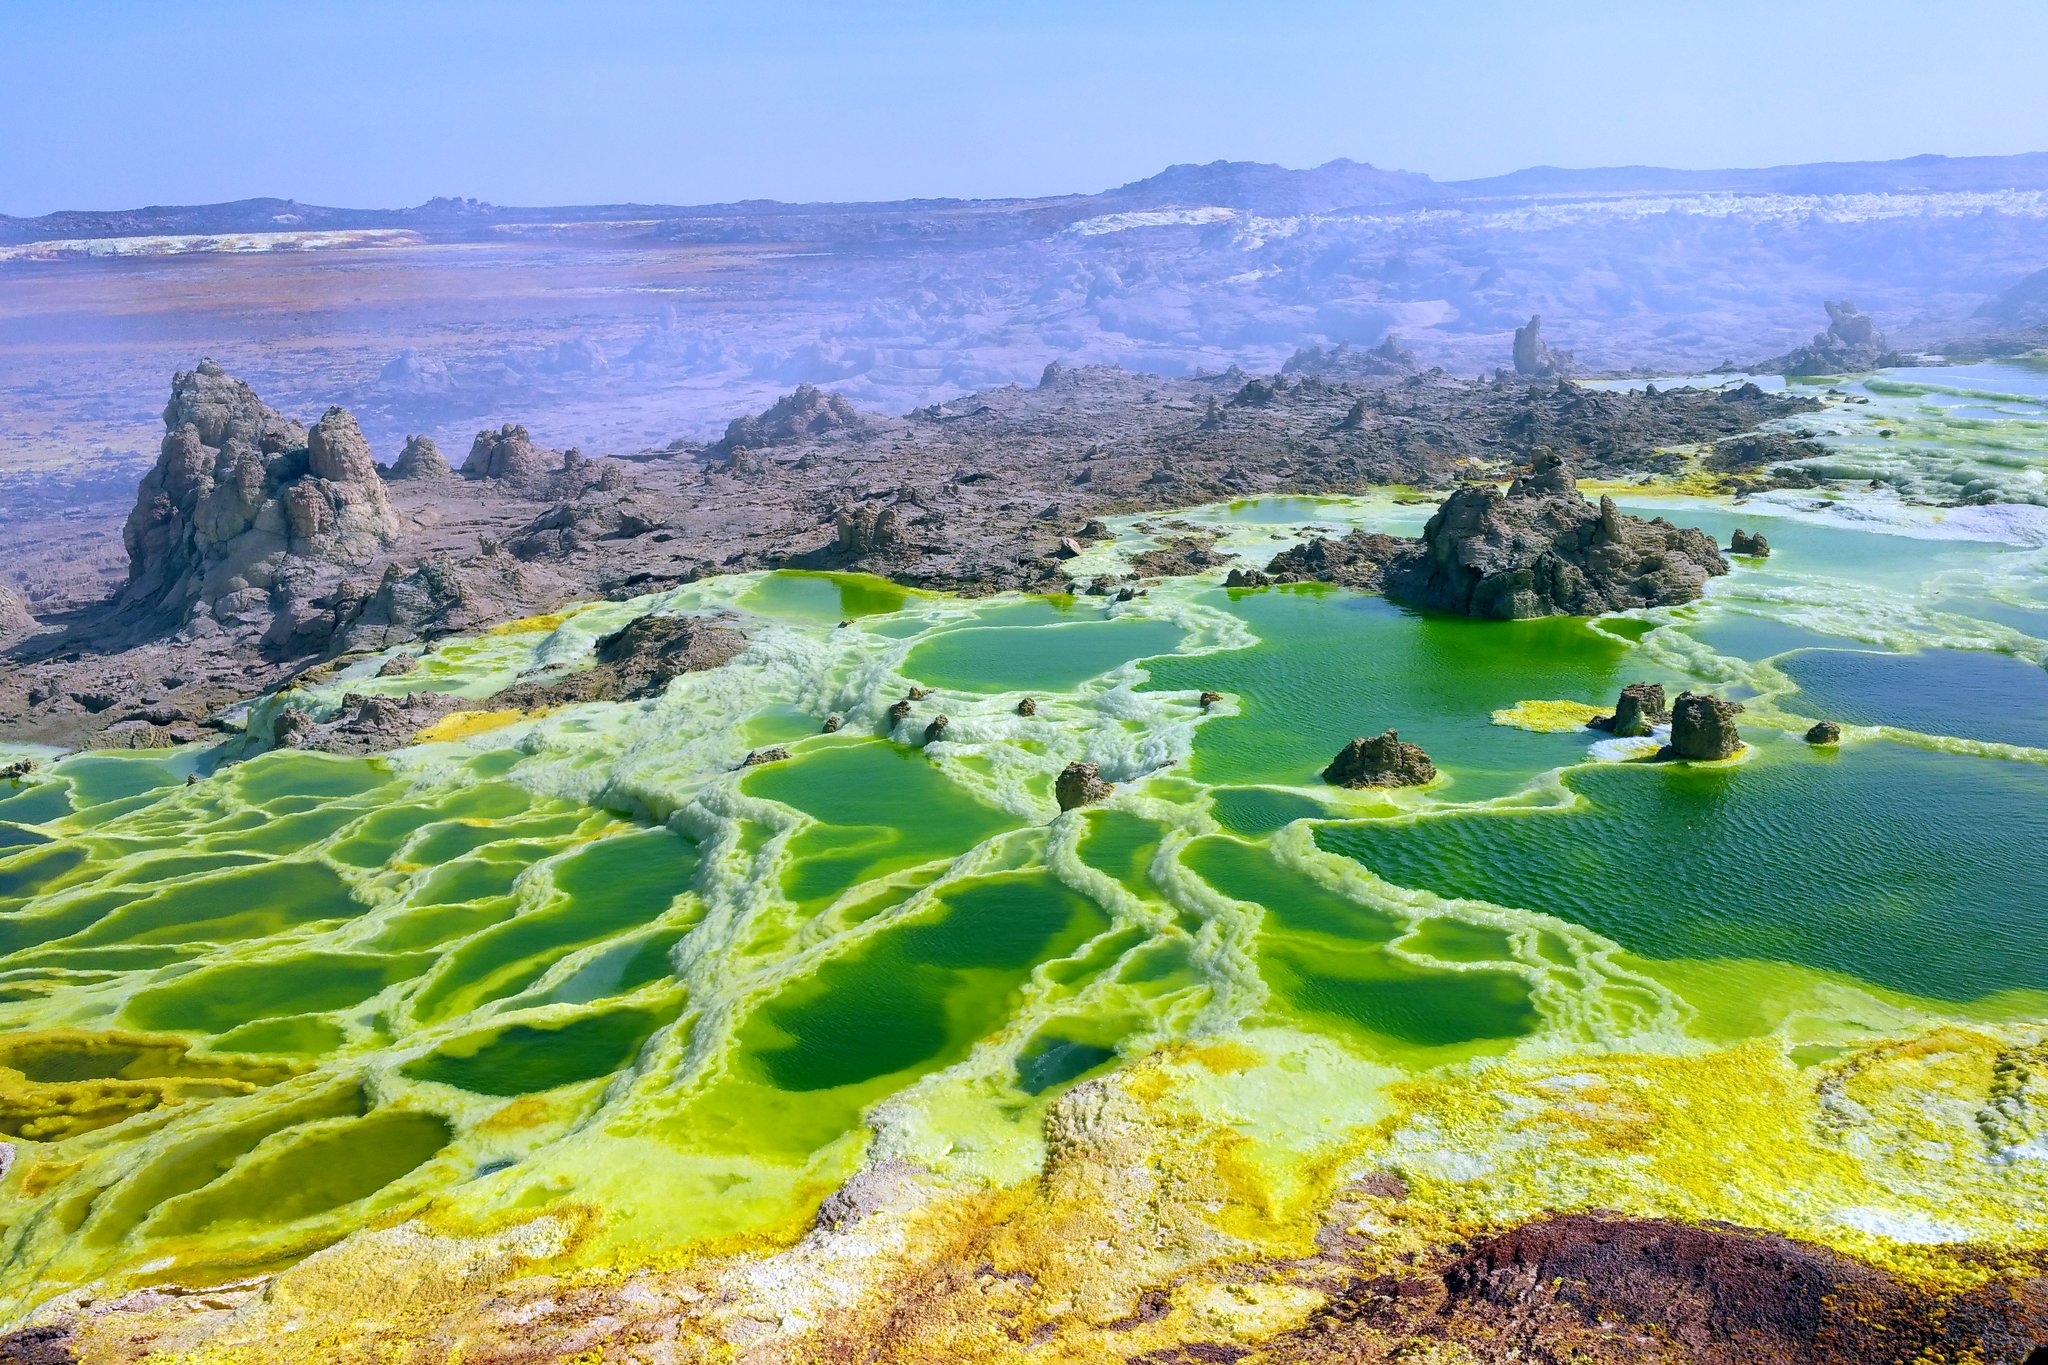
[[[0,477],[121,465],[125,489],[162,438],[164,375],[201,354],[303,420],[348,407],[387,460],[414,434],[459,460],[506,422],[629,454],[715,440],[799,383],[899,413],[1055,358],[1184,377],[1303,350],[1319,372],[1317,352],[1380,364],[1397,332],[1417,368],[1470,377],[1511,362],[1532,313],[1585,372],[1786,356],[1843,297],[1901,352],[2009,352],[2042,344],[2044,223],[2042,156],[1481,182],[1214,164],[1034,201],[0,219]]]

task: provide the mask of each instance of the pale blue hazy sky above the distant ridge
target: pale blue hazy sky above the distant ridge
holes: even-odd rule
[[[2038,0],[0,0],[0,213],[2036,151],[2044,51]]]

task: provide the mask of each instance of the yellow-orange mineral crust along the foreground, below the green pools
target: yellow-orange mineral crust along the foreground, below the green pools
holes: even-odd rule
[[[2048,1261],[2048,1216],[2015,1220],[2048,1209],[2048,1171],[2001,1160],[1982,1117],[2025,1119],[2038,1048],[1935,1027],[1815,1068],[1769,1042],[1511,1058],[1382,1085],[1352,1105],[1366,1121],[1317,1140],[1243,1132],[1233,1095],[1270,1103],[1272,1056],[1219,1072],[1198,1048],[1167,1050],[1063,1095],[1022,1185],[877,1160],[782,1246],[678,1259],[645,1228],[637,1269],[592,1263],[588,1224],[555,1212],[473,1236],[408,1222],[260,1291],[86,1312],[76,1349],[88,1363],[905,1365],[1257,1349],[1341,1310],[1350,1285],[1587,1207],[1778,1230],[1968,1289]],[[1303,1093],[1331,1081],[1315,1070]],[[1284,1142],[1296,1160],[1272,1160]]]

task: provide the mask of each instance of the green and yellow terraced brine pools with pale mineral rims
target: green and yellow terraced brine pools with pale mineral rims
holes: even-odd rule
[[[2042,1244],[2044,551],[1972,512],[1632,510],[1776,555],[1593,622],[733,575],[297,698],[481,698],[641,612],[735,614],[748,653],[659,700],[377,759],[47,763],[0,788],[0,1302],[401,1218],[770,1246],[862,1160],[1028,1181],[1067,1087],[1219,1048],[1204,1111],[1276,1185],[1364,1162],[1470,1218]],[[1124,518],[1075,573],[1425,512]],[[1583,718],[1638,679],[1743,700],[1747,753],[1624,761]],[[1389,726],[1440,784],[1319,782]],[[1073,759],[1118,786],[1061,814]]]

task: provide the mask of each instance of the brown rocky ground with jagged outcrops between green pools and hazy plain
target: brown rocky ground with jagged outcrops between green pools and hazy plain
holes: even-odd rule
[[[1683,469],[1688,456],[1669,446],[1704,446],[1747,471],[1733,477],[1769,481],[1757,460],[1776,458],[1782,438],[1751,432],[1812,407],[1753,385],[1606,393],[1440,370],[1163,379],[1051,364],[1032,387],[905,417],[799,387],[713,444],[633,460],[549,450],[502,424],[473,438],[457,473],[424,436],[381,467],[346,409],[301,426],[203,362],[172,381],[158,458],[127,512],[119,589],[102,598],[82,575],[27,604],[37,630],[10,616],[0,735],[170,743],[223,702],[336,655],[719,571],[1044,589],[1065,581],[1069,542],[1106,512],[1454,489],[1538,456],[1538,473],[1509,493],[1470,487],[1440,516],[1460,542],[1497,542],[1507,559],[1397,557],[1389,591],[1481,614],[1608,610],[1696,591],[1720,561],[1671,528],[1604,520],[1569,491],[1559,460],[1626,479]],[[1520,563],[1538,540],[1573,546]],[[1139,567],[1212,563],[1190,544]],[[1372,585],[1391,563],[1374,559],[1370,583],[1300,573]],[[1290,567],[1276,561],[1276,573]],[[1542,581],[1524,583],[1528,573]]]

